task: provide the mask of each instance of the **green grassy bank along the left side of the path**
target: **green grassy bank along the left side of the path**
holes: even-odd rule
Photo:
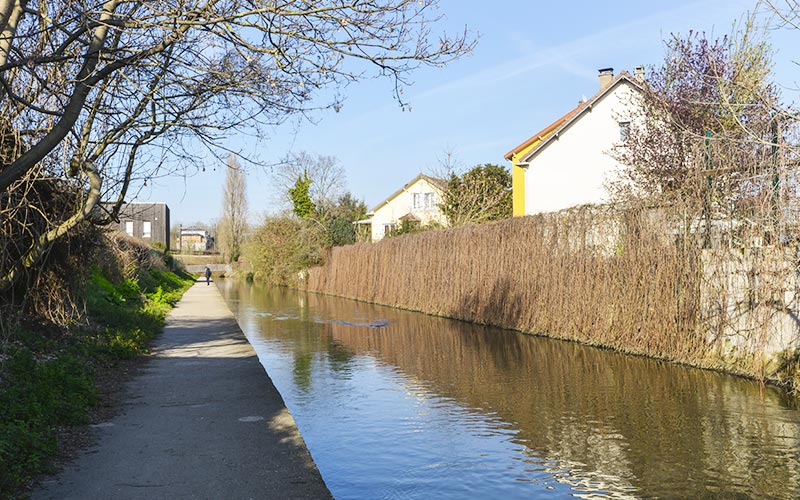
[[[165,266],[121,279],[95,266],[86,314],[68,328],[21,321],[0,344],[0,498],[15,498],[51,470],[58,430],[86,424],[101,403],[96,381],[120,360],[146,353],[193,277]]]

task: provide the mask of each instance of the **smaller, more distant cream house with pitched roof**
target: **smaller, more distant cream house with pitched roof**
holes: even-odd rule
[[[379,203],[367,215],[369,219],[356,222],[360,233],[378,241],[403,222],[419,225],[447,224],[439,209],[447,183],[442,179],[419,174],[391,196]]]

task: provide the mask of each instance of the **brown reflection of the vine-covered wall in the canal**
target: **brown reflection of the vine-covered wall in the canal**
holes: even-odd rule
[[[315,315],[352,318],[345,301],[307,300]],[[754,493],[758,484],[775,498],[800,492],[797,458],[768,451],[800,446],[800,427],[782,417],[781,391],[480,325],[372,306],[360,312],[388,326],[331,322],[323,331],[354,354],[399,367],[412,393],[420,385],[513,423],[514,441],[534,461],[569,464],[565,482],[601,481],[617,493],[630,485],[634,495],[663,498],[703,497],[709,485]]]

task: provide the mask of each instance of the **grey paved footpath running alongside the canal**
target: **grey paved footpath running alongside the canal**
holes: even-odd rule
[[[126,392],[32,498],[332,498],[216,286],[186,292]]]

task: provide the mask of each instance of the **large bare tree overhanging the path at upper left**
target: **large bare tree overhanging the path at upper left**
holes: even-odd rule
[[[438,0],[0,0],[0,288],[87,219],[107,222],[131,188],[183,171],[233,130],[305,114],[316,91],[394,82],[472,47],[431,37]],[[433,14],[432,14],[433,12]],[[316,107],[339,106],[341,96]],[[69,210],[36,206],[41,181]],[[110,200],[107,216],[96,208]],[[91,217],[90,217],[91,216]],[[27,225],[26,225],[27,224]]]

